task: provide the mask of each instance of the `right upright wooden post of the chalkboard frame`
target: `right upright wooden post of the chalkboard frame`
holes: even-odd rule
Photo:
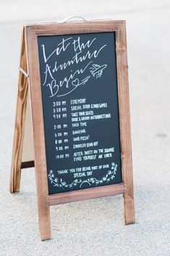
[[[129,83],[127,67],[127,41],[125,22],[116,31],[116,64],[119,97],[120,139],[122,147],[123,182],[127,187],[124,194],[125,224],[135,222],[133,177],[132,177],[132,146],[129,112]]]

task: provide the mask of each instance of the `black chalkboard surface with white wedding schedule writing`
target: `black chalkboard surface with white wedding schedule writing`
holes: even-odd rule
[[[122,182],[115,33],[38,36],[48,193]]]

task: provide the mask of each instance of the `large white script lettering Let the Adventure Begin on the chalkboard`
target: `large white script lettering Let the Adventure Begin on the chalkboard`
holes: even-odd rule
[[[41,45],[45,67],[42,85],[48,88],[50,97],[65,96],[78,86],[85,86],[89,79],[101,77],[107,65],[98,65],[98,58],[107,45],[95,44],[95,37],[83,42],[80,36],[76,39],[70,36],[63,38],[52,52],[48,52],[46,44]],[[61,55],[62,63],[58,61]]]

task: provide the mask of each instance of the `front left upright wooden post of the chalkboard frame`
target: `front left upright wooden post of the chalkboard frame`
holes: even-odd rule
[[[38,218],[41,239],[51,238],[50,211],[47,202],[48,181],[46,172],[46,149],[43,127],[43,107],[41,100],[40,67],[38,62],[38,45],[35,33],[25,28],[27,65],[30,75],[30,102],[33,121],[33,140],[35,152],[35,177],[38,198]]]

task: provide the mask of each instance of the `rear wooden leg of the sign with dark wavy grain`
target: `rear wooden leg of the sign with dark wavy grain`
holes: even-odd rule
[[[27,62],[25,53],[25,29],[22,29],[22,42],[20,54],[20,67],[27,72]],[[22,146],[25,128],[25,110],[27,105],[27,78],[21,72],[18,80],[17,108],[14,125],[14,141],[12,149],[12,167],[10,176],[10,192],[20,191]]]

